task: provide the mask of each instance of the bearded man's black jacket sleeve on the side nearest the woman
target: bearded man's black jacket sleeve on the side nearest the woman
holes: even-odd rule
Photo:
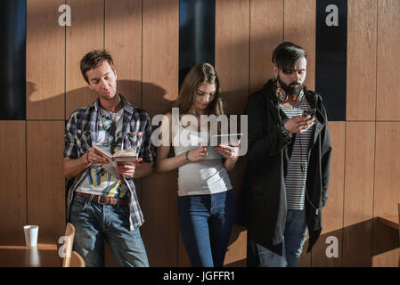
[[[290,144],[290,140],[286,138],[279,127],[280,122],[265,122],[265,118],[268,117],[265,116],[267,110],[268,108],[257,98],[256,94],[249,97],[245,115],[248,116],[248,157],[252,161],[271,157]]]

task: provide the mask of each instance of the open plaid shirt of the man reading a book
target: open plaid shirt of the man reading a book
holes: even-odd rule
[[[130,102],[119,94],[124,103],[123,123],[122,123],[122,140],[121,150],[135,148],[139,153],[142,162],[148,162],[154,167],[155,151],[151,144],[151,120],[149,115],[142,109],[135,108]],[[65,150],[64,157],[69,159],[78,159],[84,155],[89,149],[97,144],[99,134],[97,118],[100,115],[99,100],[92,104],[78,108],[69,117],[67,126],[65,127]],[[128,125],[130,132],[127,132]],[[138,136],[138,132],[142,132]],[[74,191],[78,185],[85,179],[83,171],[76,178],[69,189],[67,202],[67,217],[69,219],[69,208],[74,197]],[[143,224],[143,213],[139,206],[136,196],[135,183],[132,178],[124,178],[130,191],[130,229],[135,230],[136,227]]]

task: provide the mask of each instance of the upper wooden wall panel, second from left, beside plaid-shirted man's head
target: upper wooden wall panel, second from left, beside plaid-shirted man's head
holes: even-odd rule
[[[73,110],[94,102],[98,95],[87,87],[79,69],[79,61],[94,49],[104,47],[104,1],[68,0],[72,23],[66,36],[66,110],[69,118]]]

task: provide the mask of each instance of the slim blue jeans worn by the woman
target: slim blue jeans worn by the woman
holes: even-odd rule
[[[193,267],[222,267],[235,218],[233,191],[178,197],[179,227]]]

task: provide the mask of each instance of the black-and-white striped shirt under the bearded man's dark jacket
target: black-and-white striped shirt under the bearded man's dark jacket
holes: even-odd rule
[[[310,109],[306,99],[303,99],[294,109],[287,109],[282,104],[280,106],[288,118],[300,116],[304,110]],[[308,146],[313,134],[314,126],[301,134],[296,134],[288,172],[285,177],[286,199],[289,209],[302,210],[305,207]]]

